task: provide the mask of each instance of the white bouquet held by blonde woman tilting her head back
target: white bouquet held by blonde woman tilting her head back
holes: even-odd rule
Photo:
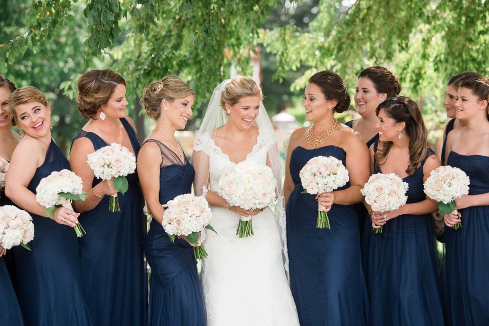
[[[41,179],[35,188],[35,200],[46,207],[46,215],[54,216],[57,207],[63,206],[73,210],[71,200],[84,201],[87,193],[83,191],[83,181],[74,172],[62,169],[53,171],[48,176]],[[76,224],[75,232],[77,237],[86,234],[80,223]]]

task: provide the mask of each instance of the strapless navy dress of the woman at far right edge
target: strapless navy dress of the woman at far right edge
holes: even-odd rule
[[[489,192],[489,157],[450,152],[448,165],[470,178],[469,195]],[[462,228],[445,227],[447,325],[489,324],[489,205],[459,210]]]

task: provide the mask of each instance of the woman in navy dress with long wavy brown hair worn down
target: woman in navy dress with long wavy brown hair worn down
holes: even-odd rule
[[[416,103],[400,96],[376,109],[379,143],[370,148],[372,173],[395,173],[409,184],[407,203],[384,214],[367,207],[363,264],[370,299],[370,325],[444,325],[440,271],[431,213],[436,201],[423,182],[440,166],[427,144]],[[384,225],[376,234],[372,228]]]

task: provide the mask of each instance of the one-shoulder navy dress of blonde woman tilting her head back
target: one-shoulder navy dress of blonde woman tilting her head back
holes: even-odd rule
[[[54,141],[27,188],[35,192],[40,180],[53,171],[69,169]],[[92,325],[80,272],[78,241],[73,228],[30,214],[34,223],[32,251],[15,246],[16,292],[25,325]]]

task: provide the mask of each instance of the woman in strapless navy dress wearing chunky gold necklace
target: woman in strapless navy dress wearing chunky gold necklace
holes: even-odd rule
[[[358,216],[353,204],[368,178],[368,149],[361,136],[334,118],[350,96],[340,76],[321,71],[304,92],[309,128],[295,130],[288,146],[284,181],[290,283],[300,325],[366,325],[368,298],[363,277]],[[317,196],[301,193],[299,171],[316,156],[334,156],[350,181]],[[316,229],[317,203],[326,207],[331,229]],[[334,206],[333,206],[334,205]]]

